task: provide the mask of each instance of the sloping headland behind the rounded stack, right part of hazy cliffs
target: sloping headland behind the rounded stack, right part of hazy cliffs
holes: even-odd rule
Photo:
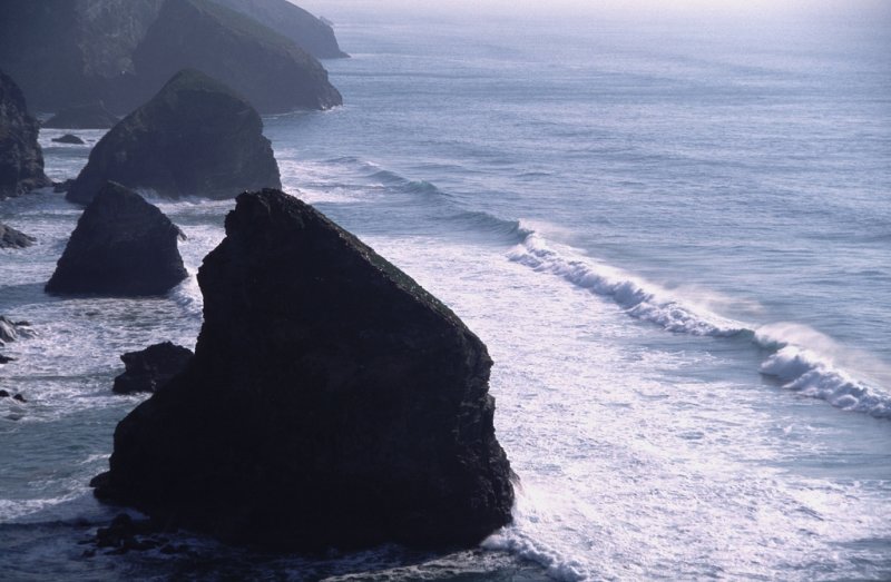
[[[342,103],[314,57],[209,0],[167,0],[133,58],[149,87],[159,87],[179,69],[194,68],[232,87],[263,114]]]

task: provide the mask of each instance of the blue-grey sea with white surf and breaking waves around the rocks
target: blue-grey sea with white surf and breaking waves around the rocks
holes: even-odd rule
[[[0,578],[888,580],[891,27],[529,21],[344,9],[346,105],[265,119],[285,188],[449,304],[496,362],[515,523],[386,546],[97,554],[89,479],[139,397],[118,356],[194,346],[194,277],[156,299],[42,293],[79,208],[0,204]],[[855,16],[855,14],[854,14]],[[87,146],[50,141],[72,177]],[[158,204],[195,273],[232,201]]]

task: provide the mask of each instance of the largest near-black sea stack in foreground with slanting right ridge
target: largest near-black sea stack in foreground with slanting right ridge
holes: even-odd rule
[[[474,544],[511,520],[491,359],[313,208],[238,196],[186,369],[115,432],[99,499],[273,548]]]

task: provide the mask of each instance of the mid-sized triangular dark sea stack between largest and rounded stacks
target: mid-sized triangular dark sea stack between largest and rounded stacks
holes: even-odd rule
[[[156,206],[108,183],[80,216],[46,290],[161,295],[188,275],[177,248],[180,236]]]

